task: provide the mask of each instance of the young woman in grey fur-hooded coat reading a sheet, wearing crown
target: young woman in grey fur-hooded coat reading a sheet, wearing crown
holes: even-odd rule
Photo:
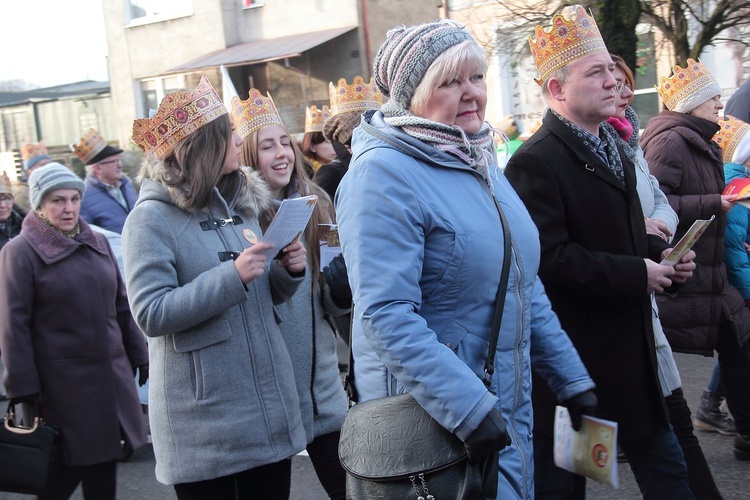
[[[240,169],[241,138],[208,80],[133,129],[147,155],[123,255],[151,338],[156,478],[181,500],[286,499],[307,440],[275,305],[304,281],[305,250],[265,259],[257,217],[270,196]]]

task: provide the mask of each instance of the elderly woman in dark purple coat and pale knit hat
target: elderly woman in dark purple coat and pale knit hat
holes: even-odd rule
[[[8,397],[62,435],[62,470],[41,499],[114,499],[117,460],[146,441],[133,375],[143,334],[107,239],[79,217],[84,184],[52,163],[29,178],[32,212],[0,252],[0,350]]]

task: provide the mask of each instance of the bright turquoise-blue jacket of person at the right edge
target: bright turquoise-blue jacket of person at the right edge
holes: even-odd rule
[[[724,178],[729,184],[732,179],[750,177],[750,168],[739,163],[724,164]],[[750,300],[750,254],[745,250],[745,242],[750,243],[750,210],[737,203],[727,214],[727,230],[724,233],[724,264],[727,266],[727,279]]]

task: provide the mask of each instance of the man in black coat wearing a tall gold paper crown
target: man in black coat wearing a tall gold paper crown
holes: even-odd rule
[[[618,422],[644,496],[693,498],[659,387],[649,296],[684,282],[694,253],[675,268],[658,263],[668,245],[646,234],[634,165],[600,129],[614,115],[616,81],[595,21],[574,6],[553,25],[566,29],[538,27],[530,39],[550,109],[505,175],[539,229],[539,276],[596,383],[597,416]],[[570,46],[580,50],[555,52]],[[559,402],[539,377],[533,402],[536,498],[582,498],[585,482],[553,463]]]

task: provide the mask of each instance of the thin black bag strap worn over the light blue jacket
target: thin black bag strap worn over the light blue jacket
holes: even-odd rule
[[[495,208],[497,213],[500,214],[500,225],[503,228],[503,269],[500,273],[500,283],[497,287],[497,296],[495,297],[495,313],[492,316],[492,329],[490,331],[490,344],[487,349],[487,358],[484,360],[484,377],[482,382],[485,387],[489,390],[492,384],[492,375],[495,373],[495,352],[497,351],[497,341],[500,336],[500,325],[503,322],[503,309],[505,307],[505,296],[508,290],[508,279],[510,278],[510,260],[511,255],[511,242],[510,242],[510,231],[508,230],[508,220],[505,218],[505,213],[497,202],[494,194],[490,194],[492,201],[495,202]],[[351,408],[352,403],[359,401],[357,395],[357,389],[354,386],[354,354],[352,352],[352,344],[354,340],[354,302],[351,307],[351,318],[349,321],[349,365],[346,368],[346,375],[344,375],[344,390],[349,398],[349,407]]]

